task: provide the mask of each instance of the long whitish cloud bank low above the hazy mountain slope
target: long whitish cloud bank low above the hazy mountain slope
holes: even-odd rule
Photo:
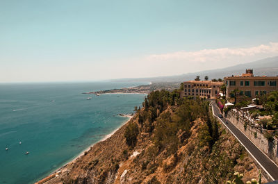
[[[154,76],[165,76],[229,67],[273,56],[278,56],[278,42],[247,48],[203,49],[152,54],[147,56],[143,63],[150,67],[157,67],[152,70]]]

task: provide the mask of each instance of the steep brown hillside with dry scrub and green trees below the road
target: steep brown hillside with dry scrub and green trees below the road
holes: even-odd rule
[[[143,105],[49,183],[225,183],[235,171],[243,181],[258,178],[254,161],[211,116],[208,101],[163,90]]]

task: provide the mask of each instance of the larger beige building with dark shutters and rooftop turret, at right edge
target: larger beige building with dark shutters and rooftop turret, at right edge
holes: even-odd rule
[[[231,91],[238,89],[247,97],[256,97],[278,90],[278,76],[254,76],[253,69],[246,69],[240,76],[224,77],[227,86],[226,94],[231,97]]]

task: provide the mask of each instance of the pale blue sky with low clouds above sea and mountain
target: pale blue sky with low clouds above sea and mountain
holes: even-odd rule
[[[0,83],[170,76],[278,56],[276,0],[0,0]]]

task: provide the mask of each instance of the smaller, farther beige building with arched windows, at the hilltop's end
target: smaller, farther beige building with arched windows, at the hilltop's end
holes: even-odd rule
[[[212,81],[186,81],[183,82],[183,92],[181,97],[206,97],[213,99],[220,92],[220,86],[222,82]]]

